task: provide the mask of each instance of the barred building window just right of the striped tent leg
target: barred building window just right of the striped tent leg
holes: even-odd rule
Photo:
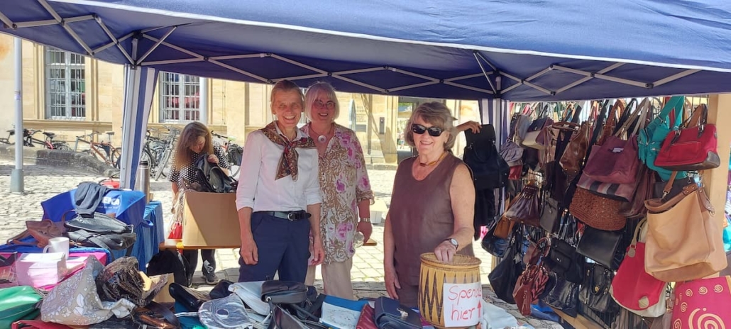
[[[160,72],[160,122],[200,120],[200,78]]]

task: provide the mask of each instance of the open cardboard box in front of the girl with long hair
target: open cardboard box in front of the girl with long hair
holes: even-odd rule
[[[183,246],[240,248],[235,193],[186,192]]]

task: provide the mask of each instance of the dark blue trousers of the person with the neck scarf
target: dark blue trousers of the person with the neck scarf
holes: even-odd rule
[[[276,271],[279,271],[279,280],[305,282],[310,258],[308,219],[292,222],[254,212],[251,214],[251,235],[257,243],[259,262],[246,265],[243,257],[239,257],[239,282],[272,280]]]

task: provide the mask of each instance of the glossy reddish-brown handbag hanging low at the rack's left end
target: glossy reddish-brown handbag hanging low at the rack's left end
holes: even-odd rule
[[[536,243],[536,248],[531,254],[530,262],[526,271],[518,276],[515,290],[512,297],[520,310],[520,314],[531,315],[531,304],[538,301],[538,296],[545,290],[548,282],[548,270],[543,265],[538,265],[539,260],[548,254],[548,238],[542,238]]]

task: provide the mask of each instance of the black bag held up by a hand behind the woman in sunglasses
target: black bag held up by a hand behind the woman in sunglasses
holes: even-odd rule
[[[499,189],[508,181],[510,166],[500,156],[495,145],[495,128],[483,124],[479,134],[466,130],[467,146],[464,148],[463,161],[472,170],[474,189]]]

